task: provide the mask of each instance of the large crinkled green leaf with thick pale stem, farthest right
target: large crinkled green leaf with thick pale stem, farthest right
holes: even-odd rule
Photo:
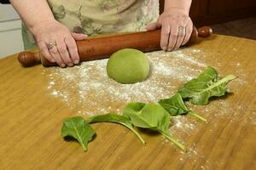
[[[178,89],[183,99],[188,98],[193,105],[207,105],[212,96],[223,96],[227,92],[228,82],[236,76],[218,77],[218,72],[212,67],[201,73]]]

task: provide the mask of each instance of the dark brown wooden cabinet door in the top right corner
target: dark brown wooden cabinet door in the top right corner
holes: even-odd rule
[[[253,8],[255,10],[256,0],[209,0],[209,14],[235,14]]]

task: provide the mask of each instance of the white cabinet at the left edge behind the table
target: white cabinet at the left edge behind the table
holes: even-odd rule
[[[0,58],[23,50],[20,17],[11,5],[0,4]]]

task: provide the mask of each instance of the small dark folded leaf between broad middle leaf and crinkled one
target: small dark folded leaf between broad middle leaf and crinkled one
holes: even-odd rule
[[[195,111],[189,110],[187,106],[184,104],[183,99],[180,94],[173,95],[170,99],[160,99],[159,105],[161,105],[166,111],[169,112],[171,116],[177,115],[186,115],[189,114],[191,116],[195,116],[203,122],[207,122],[205,118],[200,116]]]

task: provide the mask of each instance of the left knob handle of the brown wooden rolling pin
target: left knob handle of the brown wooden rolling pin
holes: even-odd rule
[[[41,63],[40,54],[34,54],[32,52],[21,52],[18,56],[18,59],[23,66],[32,66],[38,65]]]

